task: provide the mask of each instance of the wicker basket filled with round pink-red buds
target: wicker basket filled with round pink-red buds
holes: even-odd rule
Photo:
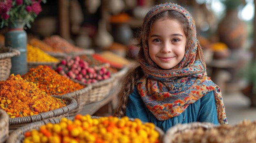
[[[109,94],[115,77],[111,76],[108,68],[109,64],[90,66],[88,62],[75,56],[62,59],[55,70],[79,84],[92,86],[84,98],[84,104],[88,104],[100,101]]]

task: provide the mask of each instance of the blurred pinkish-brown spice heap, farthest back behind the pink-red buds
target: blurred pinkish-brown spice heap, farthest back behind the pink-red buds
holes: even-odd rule
[[[73,53],[73,52],[81,52],[82,48],[76,47],[71,43],[67,42],[64,38],[58,35],[52,35],[50,37],[45,38],[44,42],[49,46],[52,46],[54,49],[58,49],[63,51],[64,53]]]

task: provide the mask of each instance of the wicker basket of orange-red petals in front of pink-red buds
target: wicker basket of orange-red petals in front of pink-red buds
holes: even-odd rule
[[[31,68],[22,77],[35,83],[47,95],[66,95],[74,98],[78,105],[76,109],[70,112],[71,115],[82,110],[87,98],[87,92],[92,89],[92,86],[76,83],[45,65]]]

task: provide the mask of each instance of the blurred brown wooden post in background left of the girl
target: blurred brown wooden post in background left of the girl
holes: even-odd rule
[[[60,36],[70,40],[70,2],[69,0],[58,0],[58,6]]]

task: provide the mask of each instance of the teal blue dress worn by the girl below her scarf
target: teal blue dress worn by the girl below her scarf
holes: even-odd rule
[[[179,116],[172,117],[168,120],[159,121],[156,117],[146,108],[142,101],[137,88],[128,97],[126,105],[126,116],[130,118],[139,118],[144,122],[151,122],[161,128],[164,132],[178,123],[191,123],[211,122],[218,125],[218,117],[213,91],[204,95],[195,103],[190,104],[184,112]]]

